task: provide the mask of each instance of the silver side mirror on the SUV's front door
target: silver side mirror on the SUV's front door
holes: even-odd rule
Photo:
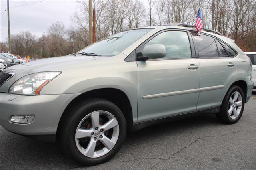
[[[163,44],[146,45],[142,50],[142,56],[148,59],[164,58],[166,49]]]

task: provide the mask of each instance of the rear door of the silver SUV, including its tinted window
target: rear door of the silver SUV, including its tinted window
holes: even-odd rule
[[[220,106],[230,83],[236,78],[236,64],[213,36],[194,35],[200,63],[200,93],[197,110]]]

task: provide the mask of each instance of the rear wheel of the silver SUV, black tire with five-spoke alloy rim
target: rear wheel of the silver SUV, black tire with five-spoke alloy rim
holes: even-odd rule
[[[220,112],[216,116],[223,123],[233,124],[242,117],[243,111],[244,92],[239,86],[234,85],[228,89],[220,106]]]

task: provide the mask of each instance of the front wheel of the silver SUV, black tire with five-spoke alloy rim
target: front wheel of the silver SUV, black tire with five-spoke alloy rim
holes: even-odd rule
[[[63,152],[82,165],[92,166],[108,161],[120,150],[126,136],[126,120],[114,103],[94,98],[68,109],[58,130],[57,140]]]

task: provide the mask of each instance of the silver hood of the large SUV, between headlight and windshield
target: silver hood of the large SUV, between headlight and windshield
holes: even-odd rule
[[[83,67],[84,65],[92,64],[94,61],[110,58],[111,57],[102,56],[68,55],[21,63],[8,67],[6,71],[11,73],[23,72],[25,74],[38,73],[42,71],[65,71],[67,69],[74,69],[75,67]]]

